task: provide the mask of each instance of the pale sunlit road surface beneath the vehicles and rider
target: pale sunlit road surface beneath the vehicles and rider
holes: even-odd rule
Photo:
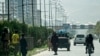
[[[100,43],[98,40],[94,40],[95,51],[91,56],[100,56]],[[83,44],[73,45],[73,40],[71,40],[71,51],[66,51],[66,48],[58,49],[58,55],[53,55],[53,51],[43,51],[32,56],[88,56],[85,54],[85,46]]]

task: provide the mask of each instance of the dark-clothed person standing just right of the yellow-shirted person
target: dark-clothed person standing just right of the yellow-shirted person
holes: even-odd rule
[[[22,34],[22,38],[20,40],[20,46],[21,46],[22,56],[26,56],[27,55],[27,41],[24,38],[24,34]]]

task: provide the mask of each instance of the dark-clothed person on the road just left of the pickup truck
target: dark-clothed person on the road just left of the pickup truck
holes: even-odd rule
[[[54,55],[57,55],[57,50],[58,50],[58,36],[56,32],[53,32],[52,38],[51,38],[51,43],[54,51]]]

